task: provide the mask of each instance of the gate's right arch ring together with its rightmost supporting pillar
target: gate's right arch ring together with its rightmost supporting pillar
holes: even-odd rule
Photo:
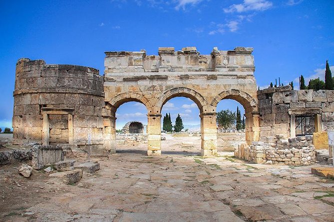
[[[257,100],[251,95],[240,90],[228,90],[218,94],[211,102],[212,107],[217,107],[218,103],[224,99],[231,99],[239,102],[245,109],[246,117],[246,142],[251,144],[252,141],[259,141],[260,127]]]

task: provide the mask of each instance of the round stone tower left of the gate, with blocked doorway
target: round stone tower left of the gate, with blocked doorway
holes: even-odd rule
[[[91,133],[92,149],[103,150],[104,92],[103,77],[98,70],[19,59],[13,95],[14,140],[40,143],[43,109],[56,108],[48,115],[50,143],[68,143],[69,115],[63,112],[71,110],[74,144],[85,146],[87,134]]]

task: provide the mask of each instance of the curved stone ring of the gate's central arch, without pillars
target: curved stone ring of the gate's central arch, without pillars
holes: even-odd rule
[[[155,106],[161,112],[163,105],[174,97],[186,97],[191,99],[198,106],[200,112],[203,112],[203,107],[208,105],[208,102],[204,99],[204,97],[195,90],[186,87],[177,87],[163,92]]]

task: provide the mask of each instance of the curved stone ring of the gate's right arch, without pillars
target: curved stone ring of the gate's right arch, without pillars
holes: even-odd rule
[[[218,94],[211,102],[212,107],[217,107],[218,103],[224,99],[232,99],[239,102],[246,112],[258,111],[257,100],[251,95],[240,90],[227,90]]]

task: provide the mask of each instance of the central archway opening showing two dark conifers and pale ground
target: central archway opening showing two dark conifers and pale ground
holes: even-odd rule
[[[200,155],[200,108],[192,99],[175,95],[161,109],[162,154]],[[182,122],[182,123],[180,123]]]

